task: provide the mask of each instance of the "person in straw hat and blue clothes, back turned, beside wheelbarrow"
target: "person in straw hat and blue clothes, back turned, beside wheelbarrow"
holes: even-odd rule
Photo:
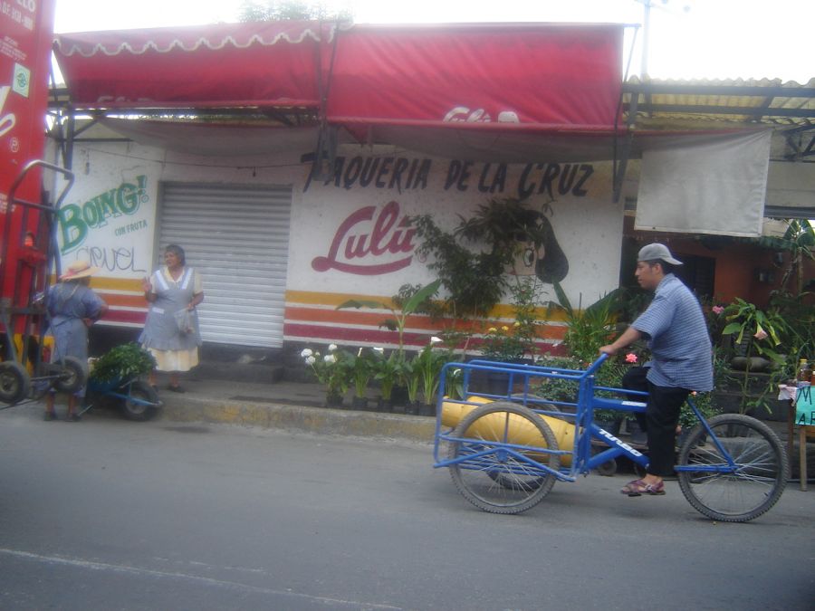
[[[51,315],[50,333],[53,335],[51,362],[55,363],[65,357],[78,358],[88,374],[88,329],[108,310],[107,304],[91,290],[91,276],[99,272],[98,267],[91,267],[87,261],[77,261],[68,266],[60,276],[60,282],[54,284],[45,299],[48,313]],[[54,412],[53,389],[45,399],[46,421],[56,419]],[[85,396],[83,386],[68,397],[68,422],[78,422],[76,413],[77,399]]]

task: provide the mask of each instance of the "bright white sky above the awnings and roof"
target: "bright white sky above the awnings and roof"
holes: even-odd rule
[[[238,21],[243,0],[56,0],[57,33]],[[815,0],[325,0],[358,24],[605,22],[642,24],[657,79],[815,78]],[[642,69],[643,29],[627,35],[630,74]],[[636,41],[630,51],[632,41]],[[809,48],[808,48],[809,47]]]

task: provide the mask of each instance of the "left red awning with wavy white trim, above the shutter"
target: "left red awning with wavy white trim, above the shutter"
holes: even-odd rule
[[[317,107],[320,28],[264,22],[69,33],[56,36],[54,53],[78,108]]]

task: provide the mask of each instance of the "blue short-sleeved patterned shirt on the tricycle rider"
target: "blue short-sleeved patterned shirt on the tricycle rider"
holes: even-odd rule
[[[669,273],[654,301],[632,325],[648,336],[648,380],[657,387],[713,390],[713,351],[705,314],[694,294]]]

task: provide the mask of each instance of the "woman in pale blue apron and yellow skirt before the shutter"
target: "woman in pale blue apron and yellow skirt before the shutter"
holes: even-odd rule
[[[196,306],[204,301],[201,276],[187,267],[184,250],[170,244],[164,251],[164,266],[142,282],[149,301],[147,321],[139,342],[156,358],[156,368],[169,373],[169,389],[183,393],[178,374],[198,364],[201,334]],[[150,384],[156,386],[155,371]]]

